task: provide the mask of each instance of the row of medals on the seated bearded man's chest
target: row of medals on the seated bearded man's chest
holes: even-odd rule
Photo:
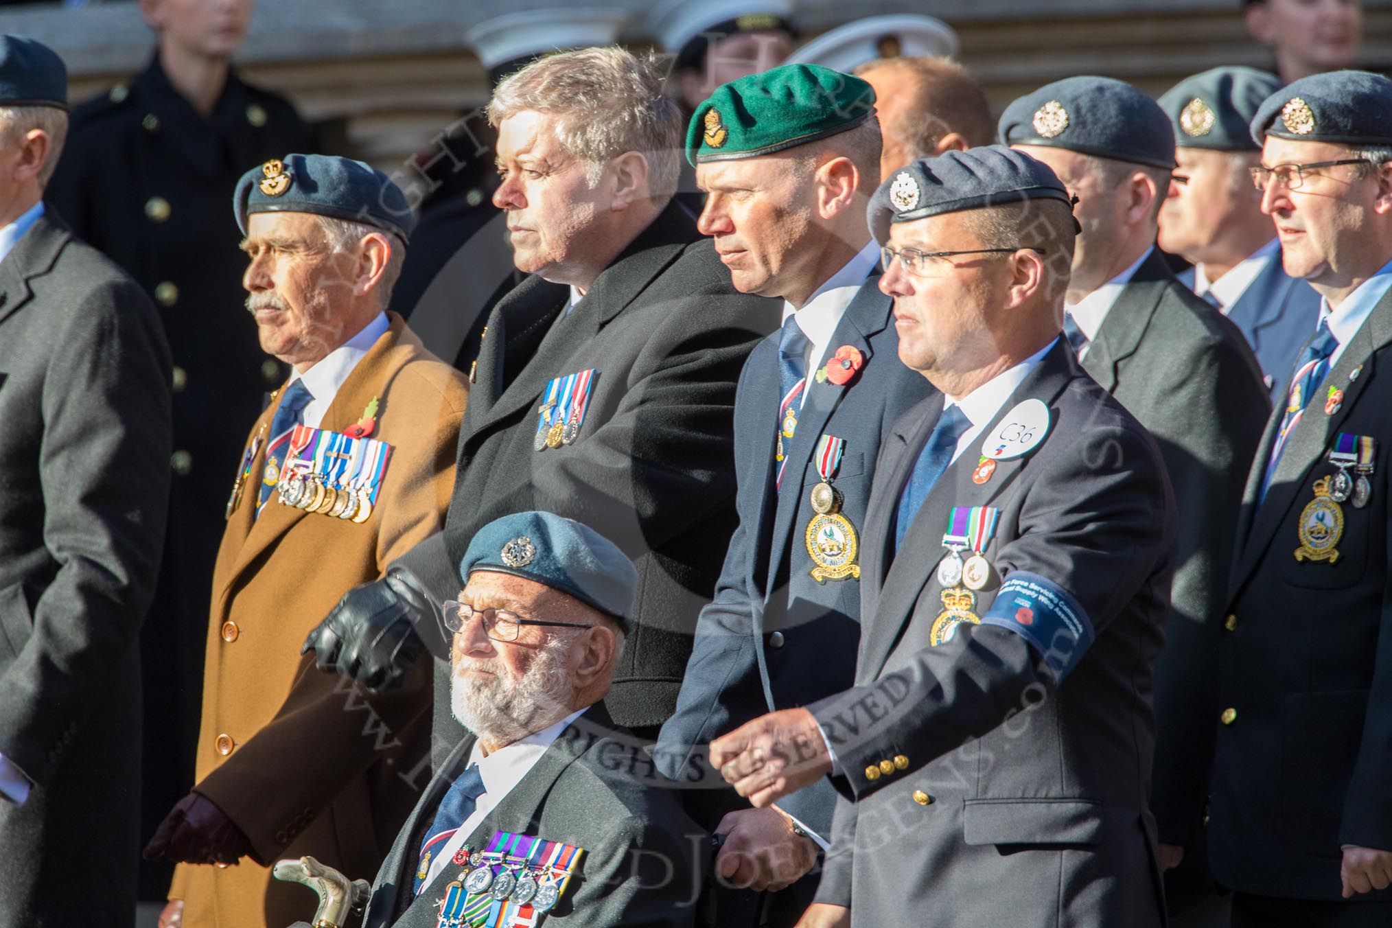
[[[583,856],[585,849],[575,845],[493,832],[484,850],[465,847],[455,856],[455,863],[466,861],[473,870],[450,883],[437,928],[540,925],[541,915],[560,902]],[[450,892],[457,886],[464,893],[462,902]]]

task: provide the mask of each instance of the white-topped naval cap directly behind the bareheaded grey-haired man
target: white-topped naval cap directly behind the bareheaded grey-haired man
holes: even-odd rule
[[[484,68],[547,51],[610,46],[628,14],[612,7],[555,7],[505,13],[469,26],[464,42]]]

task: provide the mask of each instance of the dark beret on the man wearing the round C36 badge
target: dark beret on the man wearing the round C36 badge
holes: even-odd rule
[[[874,192],[866,221],[884,245],[892,223],[1019,200],[1061,200],[1073,207],[1073,198],[1048,164],[1004,145],[983,145],[899,168]]]

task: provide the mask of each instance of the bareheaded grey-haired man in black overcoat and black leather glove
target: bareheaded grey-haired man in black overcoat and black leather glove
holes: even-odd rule
[[[621,49],[541,58],[489,107],[514,263],[461,426],[445,529],[351,591],[309,636],[319,666],[394,686],[438,658],[437,760],[458,742],[434,602],[479,526],[525,509],[582,518],[633,559],[639,594],[608,712],[656,736],[735,530],[739,370],[778,303],[738,294],[671,202],[682,120],[658,64]]]

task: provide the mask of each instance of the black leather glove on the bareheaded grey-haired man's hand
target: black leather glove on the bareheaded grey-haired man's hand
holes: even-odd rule
[[[355,587],[338,600],[299,653],[313,648],[320,671],[341,673],[369,693],[380,693],[405,679],[425,650],[415,623],[433,615],[434,607],[415,577],[391,569],[381,580]]]

